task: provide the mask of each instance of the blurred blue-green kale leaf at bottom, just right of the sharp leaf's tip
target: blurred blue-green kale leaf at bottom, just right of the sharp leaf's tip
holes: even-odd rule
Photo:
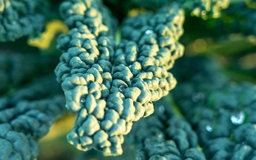
[[[134,141],[135,160],[205,160],[196,148],[196,132],[170,107],[157,106],[151,116],[134,124],[128,136]]]

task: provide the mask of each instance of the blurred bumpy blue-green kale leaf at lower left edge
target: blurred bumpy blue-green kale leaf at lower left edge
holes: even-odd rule
[[[53,77],[46,77],[0,98],[0,159],[32,160],[38,155],[37,141],[45,136],[64,110],[65,98],[52,96]],[[40,83],[42,82],[42,83]],[[49,87],[44,87],[44,85]],[[40,99],[40,100],[39,100]]]

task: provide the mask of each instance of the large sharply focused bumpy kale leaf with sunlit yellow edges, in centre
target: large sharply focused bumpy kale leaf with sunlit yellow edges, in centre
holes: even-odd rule
[[[64,53],[55,73],[66,107],[77,114],[68,141],[80,150],[96,148],[109,156],[122,154],[123,135],[132,122],[152,114],[152,101],[175,87],[167,70],[183,54],[177,41],[184,13],[167,7],[126,19],[116,49],[109,29],[116,20],[107,11],[101,1],[61,4],[70,33],[59,38]]]

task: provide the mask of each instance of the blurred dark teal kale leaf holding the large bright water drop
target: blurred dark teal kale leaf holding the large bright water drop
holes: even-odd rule
[[[254,84],[228,82],[217,68],[210,67],[214,63],[209,60],[199,57],[190,58],[190,62],[204,69],[198,72],[194,67],[190,70],[191,76],[181,77],[173,95],[185,117],[196,127],[201,143],[217,137],[229,137],[237,126],[256,122]],[[182,68],[179,69],[182,72]]]

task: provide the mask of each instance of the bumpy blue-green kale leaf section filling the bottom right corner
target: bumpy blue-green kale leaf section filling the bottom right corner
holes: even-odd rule
[[[205,156],[216,160],[253,160],[256,158],[256,124],[245,123],[232,133],[233,139],[220,137],[206,142]]]

